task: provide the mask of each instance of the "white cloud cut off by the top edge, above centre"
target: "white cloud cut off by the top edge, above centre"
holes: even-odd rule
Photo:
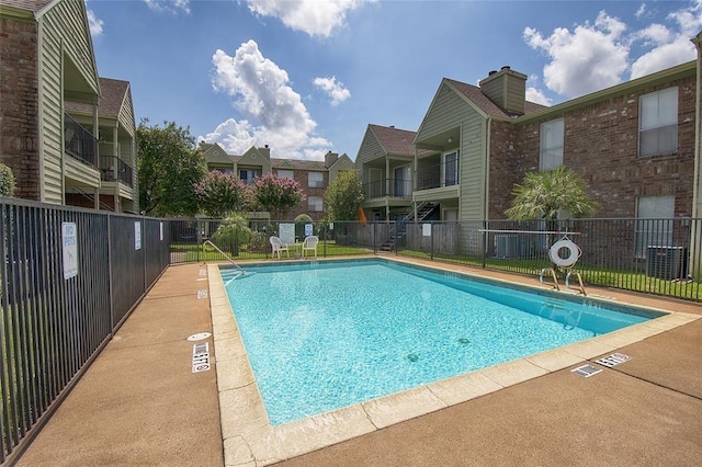
[[[293,31],[330,36],[346,24],[347,13],[375,0],[247,0],[249,11],[280,19]]]

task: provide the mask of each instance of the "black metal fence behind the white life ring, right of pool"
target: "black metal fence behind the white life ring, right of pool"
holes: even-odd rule
[[[571,270],[586,284],[702,300],[702,219],[408,224],[395,239],[395,251],[540,276],[554,265],[552,247],[564,237],[580,250]],[[559,251],[558,258],[569,254]],[[557,271],[563,281],[569,270]]]

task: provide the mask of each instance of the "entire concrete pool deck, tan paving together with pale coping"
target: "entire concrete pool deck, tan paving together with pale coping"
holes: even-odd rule
[[[539,286],[531,277],[441,266]],[[675,315],[271,428],[225,312],[218,272],[211,269],[207,277],[207,269],[165,273],[20,465],[694,465],[702,458],[698,304],[589,288]],[[210,291],[204,298],[202,291]],[[194,342],[186,338],[200,332],[214,333],[199,341],[210,343],[214,368],[192,373]],[[612,368],[595,363],[614,352],[632,360]],[[586,363],[602,372],[571,373]]]

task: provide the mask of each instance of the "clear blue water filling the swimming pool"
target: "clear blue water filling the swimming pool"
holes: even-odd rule
[[[383,260],[246,271],[222,275],[274,425],[654,317]]]

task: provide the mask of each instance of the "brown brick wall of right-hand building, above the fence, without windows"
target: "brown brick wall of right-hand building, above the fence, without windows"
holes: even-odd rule
[[[673,155],[639,158],[638,101],[645,93],[678,87],[678,150]],[[649,87],[609,98],[546,121],[565,118],[564,164],[581,174],[600,208],[593,217],[635,217],[637,196],[675,195],[676,216],[692,213],[694,167],[695,77]],[[516,163],[517,181],[524,173],[539,170],[540,124],[517,125],[514,150],[500,146],[501,132],[492,144],[492,157]],[[508,162],[490,161],[496,171]],[[501,173],[501,172],[498,172]],[[490,182],[499,176],[490,178]],[[490,217],[511,200],[511,190],[490,190]],[[505,196],[508,200],[502,200]],[[502,209],[503,210],[503,209]]]

